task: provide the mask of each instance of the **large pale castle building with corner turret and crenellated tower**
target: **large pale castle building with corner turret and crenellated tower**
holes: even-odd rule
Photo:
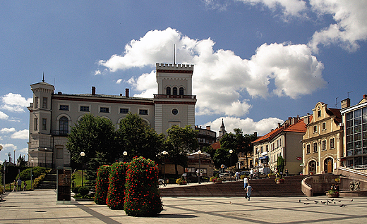
[[[54,93],[54,86],[44,80],[30,85],[30,135],[28,161],[33,166],[67,167],[68,133],[85,113],[108,118],[119,128],[128,112],[138,114],[155,131],[165,133],[172,125],[195,128],[196,96],[192,95],[193,65],[156,64],[158,94],[153,98],[125,95]]]

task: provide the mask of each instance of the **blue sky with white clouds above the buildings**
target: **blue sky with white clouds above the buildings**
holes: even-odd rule
[[[27,160],[30,85],[157,94],[155,63],[193,64],[195,125],[265,135],[319,101],[367,94],[367,1],[3,1],[0,161]]]

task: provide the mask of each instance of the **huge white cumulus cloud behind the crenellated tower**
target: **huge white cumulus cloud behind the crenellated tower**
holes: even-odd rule
[[[251,109],[250,99],[243,97],[279,97],[295,99],[323,87],[323,63],[305,44],[263,44],[250,60],[233,51],[213,50],[212,39],[191,39],[177,30],[152,30],[139,40],[126,44],[123,55],[99,62],[110,72],[132,67],[152,67],[151,73],[132,77],[127,82],[140,94],[157,93],[154,65],[172,60],[173,45],[181,63],[194,64],[193,94],[198,97],[197,115],[225,114],[243,116]],[[275,89],[268,89],[270,82]]]

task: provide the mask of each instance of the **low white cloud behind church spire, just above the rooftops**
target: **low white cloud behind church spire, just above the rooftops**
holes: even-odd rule
[[[234,128],[241,128],[243,134],[258,132],[258,135],[265,135],[267,132],[270,132],[271,129],[275,129],[278,123],[284,123],[284,121],[279,118],[265,118],[256,122],[251,118],[241,119],[234,117],[222,117],[206,123],[203,127],[210,125],[211,130],[216,131],[217,135],[219,135],[218,131],[220,125],[222,125],[222,119],[227,132],[233,132]]]

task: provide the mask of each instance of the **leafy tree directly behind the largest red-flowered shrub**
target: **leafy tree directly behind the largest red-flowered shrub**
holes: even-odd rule
[[[155,160],[164,143],[164,134],[158,135],[140,116],[133,113],[128,113],[121,120],[116,135],[120,151],[126,151],[128,158],[143,156]]]

